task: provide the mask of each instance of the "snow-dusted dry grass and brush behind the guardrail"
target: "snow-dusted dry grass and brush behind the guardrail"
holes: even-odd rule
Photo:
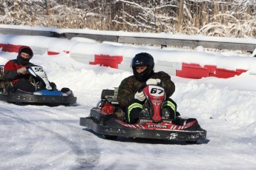
[[[148,0],[59,0],[58,3],[46,0],[45,4],[27,4],[37,5],[39,12],[33,11],[33,7],[24,7],[19,1],[11,1],[14,1],[12,11],[1,17],[2,24],[256,38],[256,3],[253,1],[246,4],[248,1],[184,0],[181,21],[175,0],[162,3],[159,0],[150,3]],[[7,17],[13,19],[10,21]]]

